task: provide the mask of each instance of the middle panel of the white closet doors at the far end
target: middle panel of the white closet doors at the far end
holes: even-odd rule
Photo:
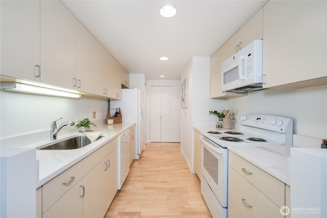
[[[172,87],[161,86],[161,142],[172,141]]]

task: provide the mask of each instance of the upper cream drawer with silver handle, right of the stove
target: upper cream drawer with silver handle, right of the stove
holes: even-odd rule
[[[233,152],[229,152],[228,154],[230,167],[235,169],[244,179],[258,188],[279,207],[285,205],[285,183],[277,180],[269,173],[254,166]],[[251,174],[248,174],[245,171]]]

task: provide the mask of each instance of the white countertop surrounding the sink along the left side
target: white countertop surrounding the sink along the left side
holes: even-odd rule
[[[36,148],[36,163],[39,165],[38,168],[38,181],[36,181],[36,188],[42,186],[46,182],[50,181],[54,177],[58,176],[61,172],[73,166],[86,156],[90,155],[95,150],[99,149],[107,142],[111,141],[115,137],[119,136],[125,130],[129,129],[135,125],[135,123],[120,123],[107,125],[102,124],[97,127],[92,127],[92,130],[101,132],[105,137],[85,146],[77,149],[69,150],[38,150],[39,147],[45,147],[46,144],[51,144],[54,141],[43,140],[36,143],[24,145],[24,138],[20,137],[18,142],[17,139],[14,140],[16,144],[20,143],[19,148]],[[78,131],[57,136],[57,142],[62,141],[66,138],[71,138],[72,136],[81,136],[83,133]],[[8,141],[8,140],[7,140]],[[36,166],[37,167],[37,166]]]

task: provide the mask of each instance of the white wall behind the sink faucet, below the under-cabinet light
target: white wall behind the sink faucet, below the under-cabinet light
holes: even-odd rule
[[[50,130],[52,121],[60,117],[63,119],[57,121],[58,125],[84,118],[95,123],[104,122],[107,110],[108,101],[104,99],[71,99],[0,91],[0,138]],[[92,112],[96,112],[96,119],[92,119]],[[69,128],[64,127],[58,135]]]

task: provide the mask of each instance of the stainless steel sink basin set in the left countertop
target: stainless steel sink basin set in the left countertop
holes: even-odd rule
[[[97,140],[103,137],[104,136],[100,136]],[[91,144],[91,141],[86,136],[76,136],[74,138],[66,139],[64,141],[43,147],[40,150],[68,150],[85,147],[89,144]]]

